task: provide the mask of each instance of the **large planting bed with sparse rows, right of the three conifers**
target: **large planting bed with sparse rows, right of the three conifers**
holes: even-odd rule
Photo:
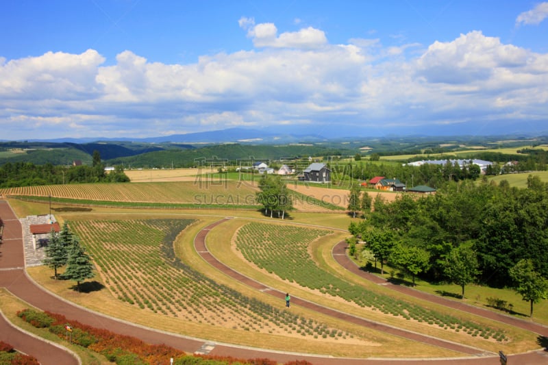
[[[71,221],[114,297],[142,310],[242,331],[360,342],[351,333],[245,297],[175,257],[190,219]],[[308,239],[314,238],[314,234]]]

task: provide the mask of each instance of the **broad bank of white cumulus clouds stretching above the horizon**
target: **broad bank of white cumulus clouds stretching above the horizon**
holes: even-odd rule
[[[399,48],[332,45],[311,27],[282,32],[240,18],[256,49],[114,63],[95,50],[0,60],[0,138],[159,136],[234,125],[353,125],[360,130],[545,118],[548,54],[475,31]],[[398,129],[393,129],[397,132]],[[51,133],[51,135],[47,135]]]

